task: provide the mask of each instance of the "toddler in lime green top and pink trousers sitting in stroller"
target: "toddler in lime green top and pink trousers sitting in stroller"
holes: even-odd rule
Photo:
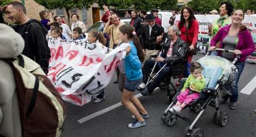
[[[202,66],[198,62],[192,62],[190,75],[187,78],[181,93],[177,96],[176,105],[169,109],[173,114],[181,113],[181,110],[190,102],[195,101],[200,96],[200,92],[205,88],[205,78],[202,75]]]

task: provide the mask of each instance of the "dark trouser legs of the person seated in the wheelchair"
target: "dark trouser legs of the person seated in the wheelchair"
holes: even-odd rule
[[[143,73],[143,83],[147,83],[148,80],[148,76],[150,75],[150,70],[151,68],[153,68],[155,65],[155,60],[152,59],[147,59],[145,61],[145,64],[143,65],[142,68],[142,73]],[[166,65],[167,66],[167,65]],[[160,70],[161,65],[160,64],[156,64],[155,67],[155,72],[158,72],[158,70]],[[170,67],[164,67],[160,73],[158,73],[158,76],[148,85],[148,90],[153,91],[158,85],[160,85],[160,83],[162,81],[164,81],[164,78],[166,78],[166,76],[170,75]]]

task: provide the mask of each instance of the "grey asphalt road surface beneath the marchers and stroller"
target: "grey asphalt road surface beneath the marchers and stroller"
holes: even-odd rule
[[[199,54],[194,59],[200,57],[202,55]],[[239,81],[239,91],[255,77],[255,68],[256,65],[254,64],[245,65],[244,72]],[[176,80],[173,80],[173,83],[175,82]],[[254,114],[254,109],[256,109],[255,90],[250,95],[239,94],[239,109],[237,110],[230,110],[229,102],[220,106],[221,111],[228,112],[229,114],[229,121],[226,127],[220,127],[213,123],[213,114],[215,112],[213,107],[207,107],[202,117],[196,123],[197,127],[202,128],[204,136],[210,137],[256,136],[256,115]],[[149,114],[149,118],[146,119],[146,127],[128,128],[127,125],[134,120],[124,106],[110,110],[87,122],[79,123],[77,120],[120,102],[121,92],[117,84],[111,82],[106,87],[105,93],[105,100],[98,104],[90,102],[85,104],[85,106],[79,107],[65,102],[67,115],[64,131],[61,136],[184,136],[184,130],[189,125],[188,123],[178,119],[176,125],[168,127],[161,120],[163,111],[168,107],[166,90],[161,89],[156,90],[150,96],[139,98]],[[135,94],[139,94],[139,91],[136,91]],[[197,114],[186,109],[182,112],[182,115],[194,120]]]

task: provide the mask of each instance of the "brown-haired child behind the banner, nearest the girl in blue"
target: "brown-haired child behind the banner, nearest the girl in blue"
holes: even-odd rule
[[[102,46],[105,46],[106,41],[102,33],[96,31],[96,30],[90,30],[88,32],[88,42],[89,43],[100,43]],[[105,93],[104,89],[102,89],[102,92],[98,94],[98,96],[95,96],[94,101],[95,103],[101,102],[105,99]]]

